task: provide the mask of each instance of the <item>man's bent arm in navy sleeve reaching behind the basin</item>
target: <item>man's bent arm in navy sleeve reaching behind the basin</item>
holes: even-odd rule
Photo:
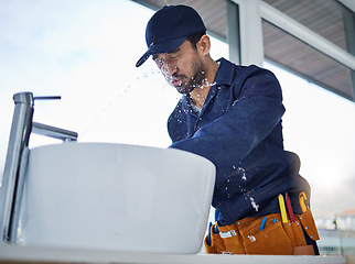
[[[281,88],[268,70],[259,69],[236,87],[240,92],[229,111],[171,147],[204,156],[218,165],[246,157],[280,122]]]

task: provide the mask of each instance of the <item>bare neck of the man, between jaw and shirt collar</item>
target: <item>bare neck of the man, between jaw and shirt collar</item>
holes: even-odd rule
[[[198,108],[203,107],[211,87],[214,85],[214,80],[218,70],[218,64],[215,61],[211,59],[205,70],[206,78],[203,80],[203,84],[201,84],[190,92],[190,97],[193,100],[193,103]]]

